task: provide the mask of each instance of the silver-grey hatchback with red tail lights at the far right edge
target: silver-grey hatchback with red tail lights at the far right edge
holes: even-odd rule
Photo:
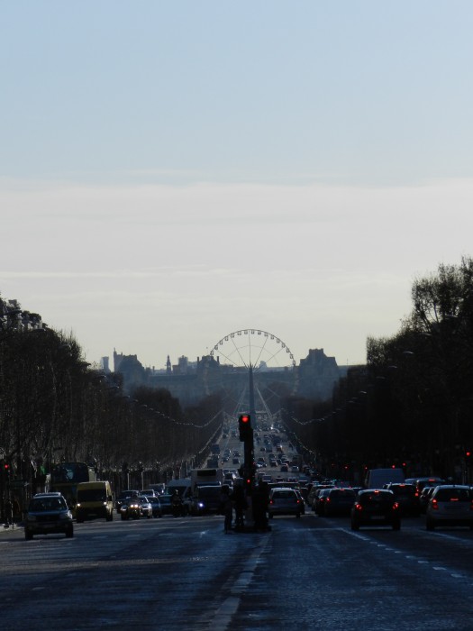
[[[425,512],[425,527],[468,526],[473,530],[473,491],[461,484],[435,488]]]

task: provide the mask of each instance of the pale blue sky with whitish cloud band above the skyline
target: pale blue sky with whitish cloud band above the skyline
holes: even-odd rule
[[[364,363],[473,254],[471,32],[470,0],[1,0],[0,296],[91,363],[249,327]]]

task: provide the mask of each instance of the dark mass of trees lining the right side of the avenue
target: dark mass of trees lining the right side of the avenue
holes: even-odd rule
[[[415,279],[412,310],[390,337],[367,340],[331,401],[287,398],[285,423],[306,457],[335,477],[372,467],[471,481],[473,260]]]

